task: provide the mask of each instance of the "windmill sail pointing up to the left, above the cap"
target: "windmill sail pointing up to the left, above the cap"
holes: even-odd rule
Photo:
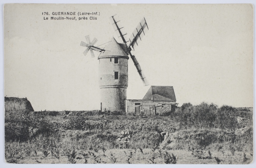
[[[110,21],[112,26],[114,27],[118,39],[126,44],[128,42],[127,38],[125,38],[125,35],[127,35],[127,33],[125,32],[124,27],[120,26],[120,20],[117,18],[117,16],[114,15],[110,17]]]

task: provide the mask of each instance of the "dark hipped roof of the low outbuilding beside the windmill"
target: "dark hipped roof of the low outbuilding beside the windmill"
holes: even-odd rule
[[[143,100],[176,101],[173,86],[151,86]]]

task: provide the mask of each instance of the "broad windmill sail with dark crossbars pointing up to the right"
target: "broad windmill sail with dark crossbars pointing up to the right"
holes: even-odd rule
[[[141,41],[141,38],[145,36],[146,31],[148,30],[148,25],[143,18],[136,29],[133,31],[131,37],[129,38],[129,46],[128,48],[132,47],[133,49],[138,46],[138,43]]]

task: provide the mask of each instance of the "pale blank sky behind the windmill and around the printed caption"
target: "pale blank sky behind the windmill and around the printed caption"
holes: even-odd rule
[[[47,11],[49,18],[52,12],[100,15],[44,20]],[[84,56],[80,42],[89,35],[97,46],[116,37],[109,20],[114,14],[128,37],[143,17],[149,27],[133,54],[150,85],[143,86],[129,59],[127,99],[142,99],[151,85],[168,85],[179,105],[253,106],[249,4],[5,5],[4,95],[27,97],[35,111],[100,109],[99,54]]]

